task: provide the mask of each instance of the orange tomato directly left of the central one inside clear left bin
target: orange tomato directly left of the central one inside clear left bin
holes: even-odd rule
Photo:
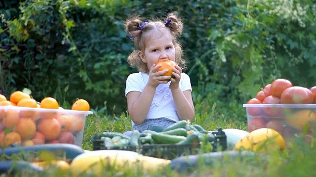
[[[36,124],[32,118],[20,118],[14,127],[14,131],[20,134],[22,140],[30,140],[36,132]]]

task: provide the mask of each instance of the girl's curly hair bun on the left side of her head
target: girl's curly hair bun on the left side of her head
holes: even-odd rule
[[[130,38],[134,38],[139,36],[140,30],[138,29],[139,26],[142,24],[142,19],[140,16],[132,16],[127,19],[124,23],[125,25],[125,32]]]

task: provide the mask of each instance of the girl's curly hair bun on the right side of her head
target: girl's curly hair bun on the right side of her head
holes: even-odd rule
[[[176,35],[181,35],[182,33],[183,23],[181,21],[181,18],[177,16],[176,12],[171,12],[168,14],[165,26],[168,27]]]

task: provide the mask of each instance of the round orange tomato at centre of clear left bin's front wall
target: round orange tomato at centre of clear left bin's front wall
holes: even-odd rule
[[[61,131],[61,125],[56,118],[45,118],[38,124],[38,131],[45,136],[45,140],[56,139]]]

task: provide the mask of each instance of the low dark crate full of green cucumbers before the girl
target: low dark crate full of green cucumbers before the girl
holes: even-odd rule
[[[157,130],[157,129],[156,129]],[[133,130],[130,136],[118,132],[102,132],[93,138],[93,150],[119,149],[143,155],[172,159],[181,155],[196,154],[204,148],[215,151],[226,148],[226,136],[221,129],[212,134],[199,125],[181,120],[161,131]]]

